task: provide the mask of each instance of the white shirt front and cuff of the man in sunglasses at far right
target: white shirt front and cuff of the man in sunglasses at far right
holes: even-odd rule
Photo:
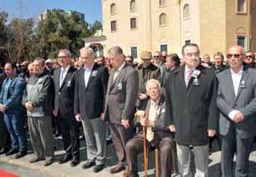
[[[231,71],[231,78],[233,81],[234,86],[234,95],[237,96],[239,92],[239,85],[243,74],[243,66],[241,67],[240,71],[238,73],[235,73],[232,68],[230,68]],[[234,120],[234,116],[238,113],[237,110],[232,110],[229,112],[229,119]]]

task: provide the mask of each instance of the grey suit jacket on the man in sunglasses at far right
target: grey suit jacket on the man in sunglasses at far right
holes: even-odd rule
[[[234,95],[234,86],[230,69],[217,74],[219,91],[217,105],[220,111],[219,133],[227,135],[230,126],[240,138],[249,138],[256,135],[256,70],[245,67],[239,85],[238,95]],[[229,112],[241,111],[244,120],[235,124],[229,119]]]

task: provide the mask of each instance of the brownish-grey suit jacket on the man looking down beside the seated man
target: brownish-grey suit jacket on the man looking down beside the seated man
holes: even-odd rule
[[[121,124],[121,120],[132,120],[135,114],[135,101],[138,96],[138,72],[135,68],[123,67],[113,81],[115,69],[111,70],[106,90],[106,119]]]

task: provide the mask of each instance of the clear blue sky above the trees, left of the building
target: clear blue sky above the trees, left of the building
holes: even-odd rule
[[[85,13],[86,22],[102,22],[101,0],[0,0],[0,11],[13,17],[36,18],[47,9],[60,8]]]

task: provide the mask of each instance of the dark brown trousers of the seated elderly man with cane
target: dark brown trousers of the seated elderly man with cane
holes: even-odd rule
[[[147,147],[150,147],[151,143],[146,141]],[[166,137],[160,140],[160,170],[161,177],[167,177],[171,175],[171,148],[173,148],[173,140],[170,137]],[[143,136],[136,135],[133,139],[129,140],[126,144],[126,158],[127,165],[130,172],[134,176],[138,176],[138,164],[137,156],[143,152]]]

